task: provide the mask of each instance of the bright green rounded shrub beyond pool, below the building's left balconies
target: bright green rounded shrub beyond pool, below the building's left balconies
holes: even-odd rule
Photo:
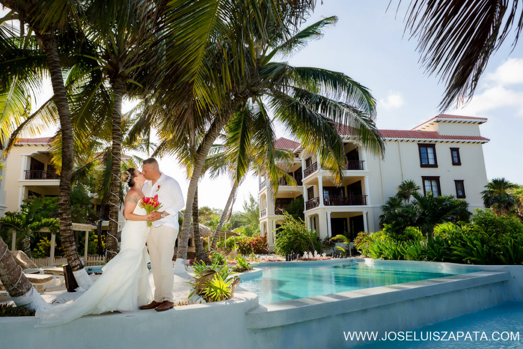
[[[302,255],[305,251],[314,252],[316,232],[307,229],[302,219],[295,219],[289,213],[283,212],[284,221],[278,228],[275,250],[281,255],[291,252]]]

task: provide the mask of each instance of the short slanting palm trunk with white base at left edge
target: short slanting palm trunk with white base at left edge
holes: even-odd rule
[[[15,258],[7,250],[7,244],[2,238],[0,238],[0,281],[17,306],[28,305],[31,309],[49,308],[48,303],[22,273],[22,268],[16,264]]]

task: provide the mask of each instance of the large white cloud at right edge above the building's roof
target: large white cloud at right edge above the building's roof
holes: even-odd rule
[[[487,116],[497,108],[514,108],[523,116],[523,59],[511,58],[498,66],[493,73],[486,74],[486,80],[476,89],[470,103],[450,114]]]

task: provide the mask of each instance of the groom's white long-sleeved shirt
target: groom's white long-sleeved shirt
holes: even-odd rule
[[[168,226],[179,230],[178,211],[185,207],[184,195],[176,179],[162,173],[158,181],[153,185],[152,181],[145,181],[142,192],[146,196],[158,195],[158,201],[162,207],[158,211],[169,213],[165,218],[153,221],[154,227]]]

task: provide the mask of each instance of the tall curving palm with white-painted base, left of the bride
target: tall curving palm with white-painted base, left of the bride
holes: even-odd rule
[[[58,40],[67,35],[67,33],[77,32],[75,23],[78,23],[79,14],[81,13],[79,3],[73,1],[2,0],[2,4],[12,9],[8,16],[16,16],[16,19],[20,22],[20,36],[24,36],[25,25],[29,28],[27,37],[31,37],[31,33],[34,33],[47,59],[47,69],[53,88],[53,102],[59,115],[63,142],[61,154],[63,166],[59,185],[59,218],[62,246],[67,263],[71,266],[78,285],[83,288],[89,288],[92,285],[92,280],[87,276],[76,252],[71,221],[70,192],[73,166],[73,129],[62,75],[61,52]],[[2,39],[5,39],[5,36],[2,36]],[[16,75],[18,72],[16,70],[17,67],[14,64],[12,69],[7,71],[7,74],[11,76]],[[27,73],[27,70],[25,73]]]

